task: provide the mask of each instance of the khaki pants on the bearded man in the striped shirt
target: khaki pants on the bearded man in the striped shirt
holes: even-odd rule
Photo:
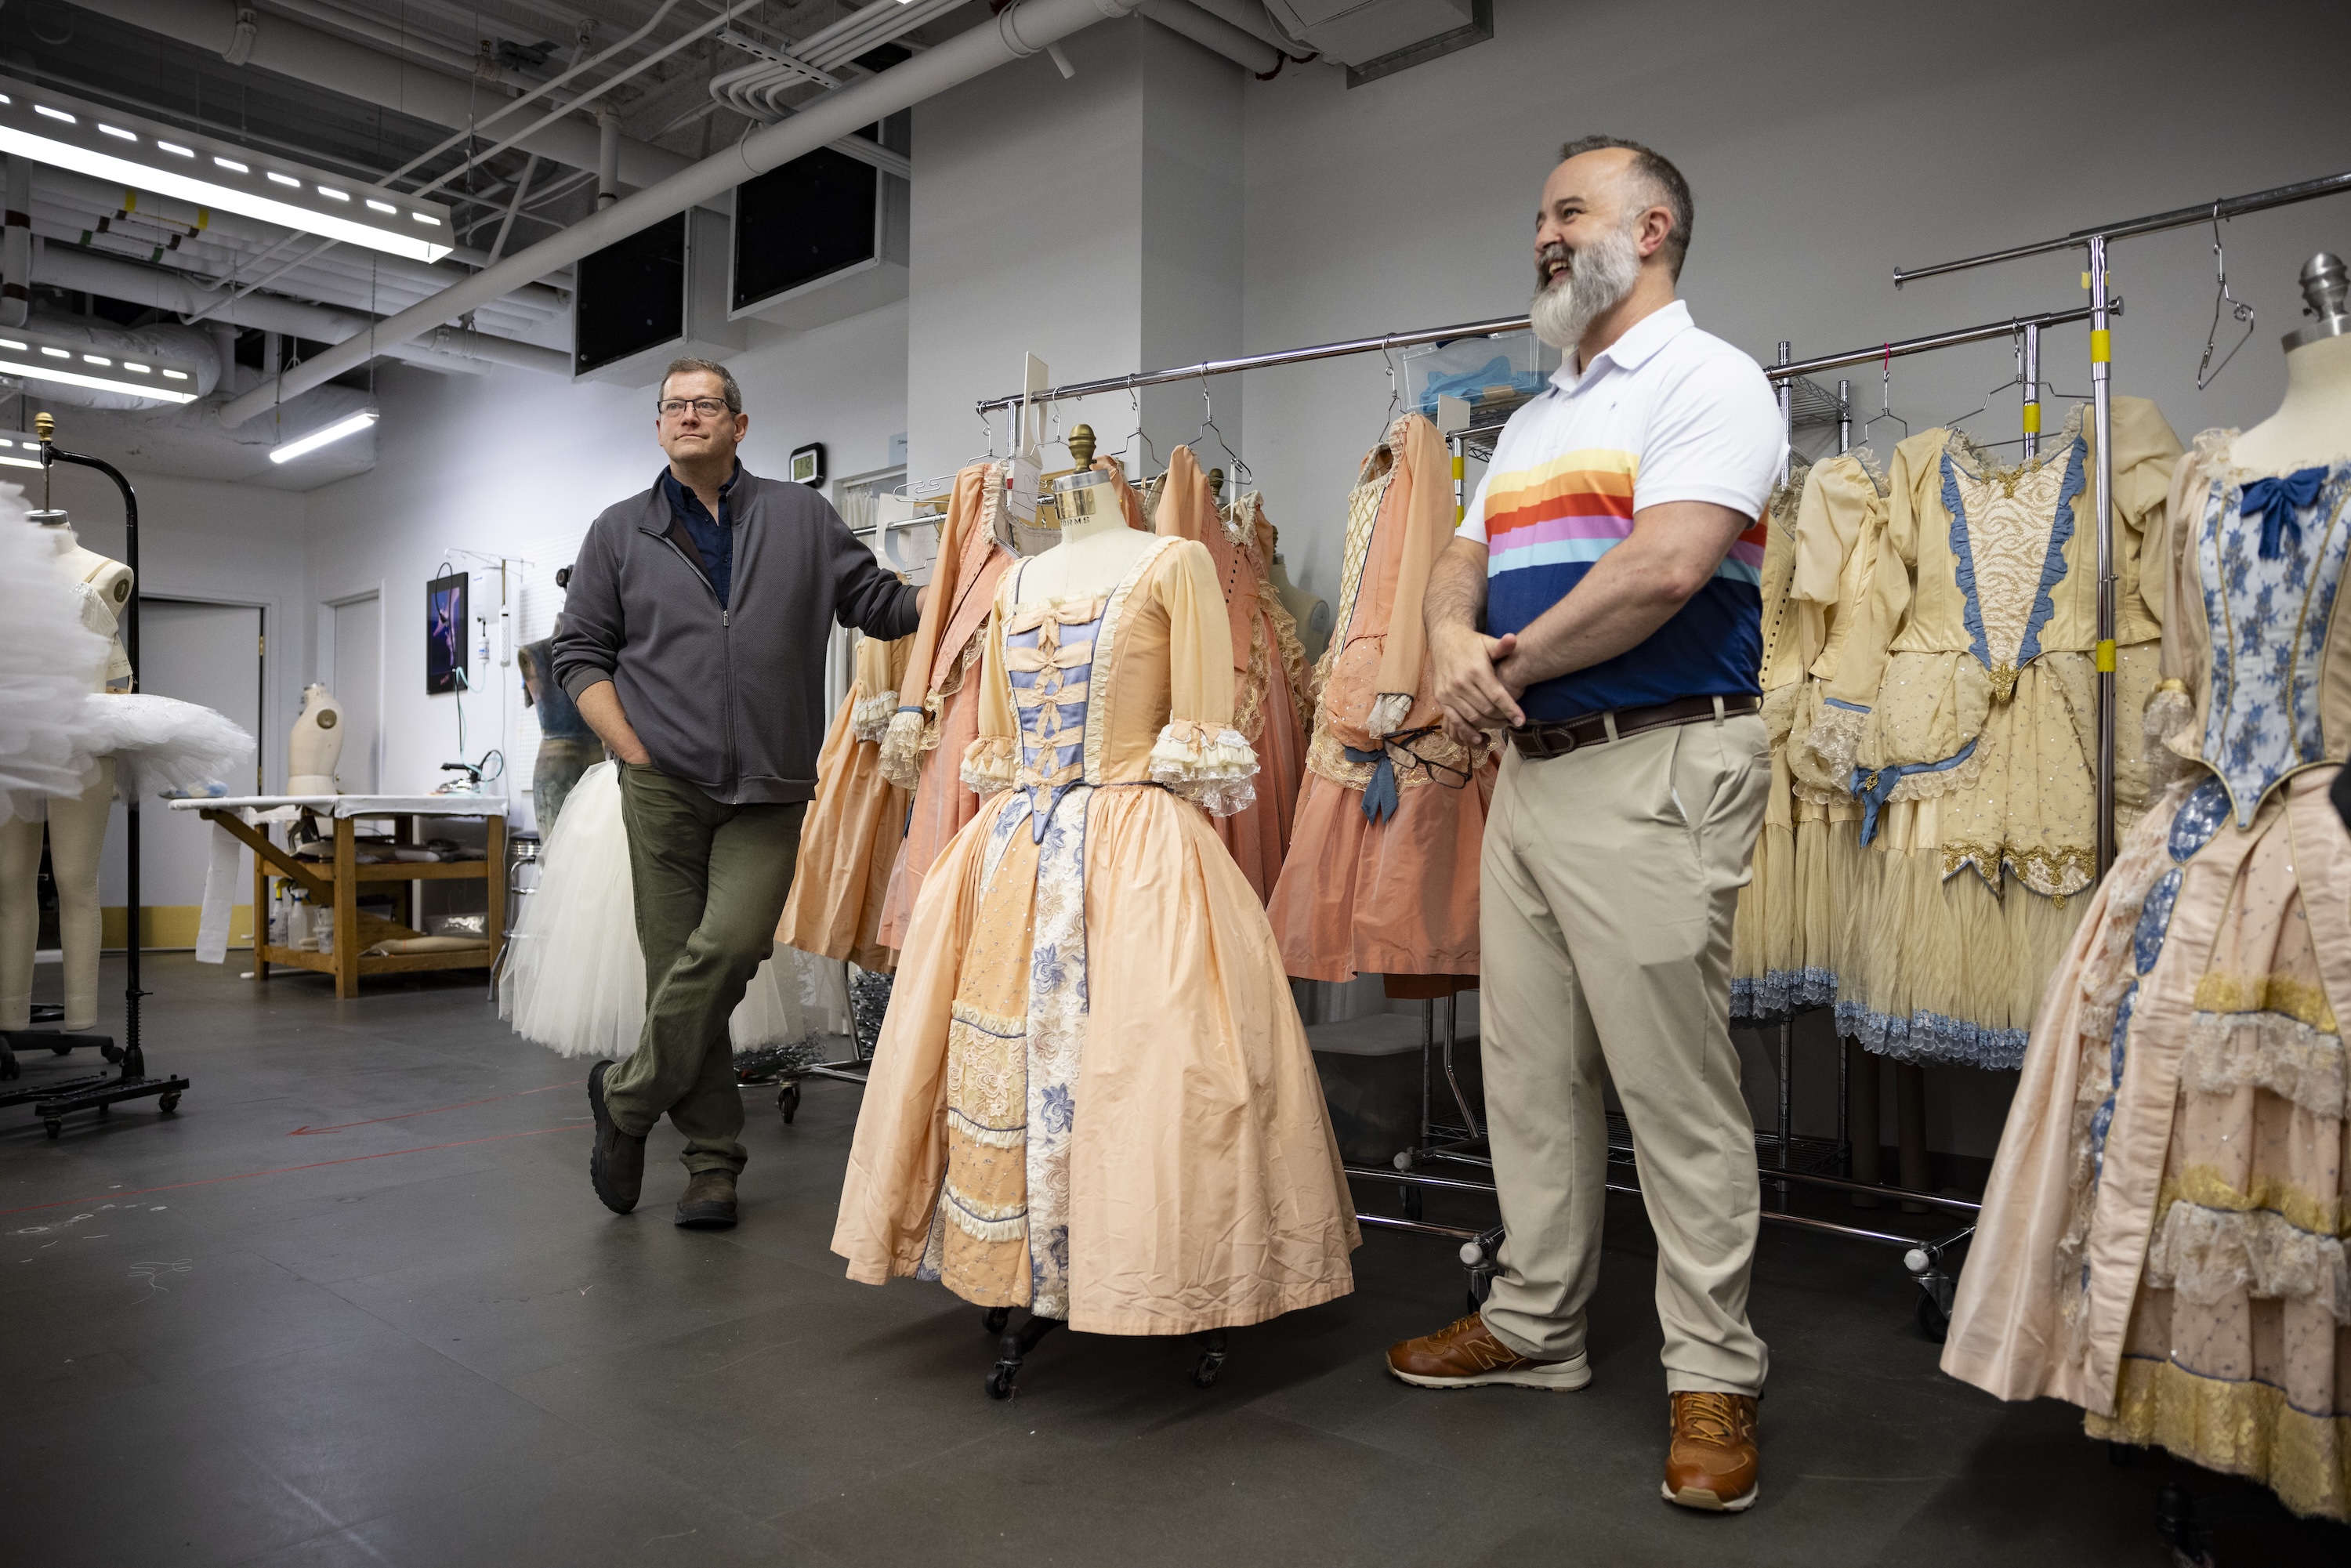
[[[1768,785],[1756,715],[1547,762],[1502,752],[1479,903],[1479,1044],[1507,1227],[1486,1326],[1523,1356],[1585,1352],[1613,1081],[1657,1232],[1665,1385],[1763,1389],[1763,1340],[1747,1326],[1761,1182],[1730,1048],[1730,914]]]

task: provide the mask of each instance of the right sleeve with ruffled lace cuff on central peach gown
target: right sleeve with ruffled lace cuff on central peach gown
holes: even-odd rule
[[[1258,799],[1258,752],[1232,726],[1232,632],[1208,548],[1168,545],[1152,592],[1168,611],[1168,722],[1152,745],[1152,783],[1211,816],[1246,811]]]

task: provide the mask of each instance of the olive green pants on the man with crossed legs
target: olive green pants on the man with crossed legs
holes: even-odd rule
[[[726,806],[656,766],[621,766],[621,818],[644,950],[644,1034],[604,1074],[604,1105],[644,1138],[663,1114],[686,1171],[743,1171],[743,1091],[726,1020],[776,950],[804,802]]]

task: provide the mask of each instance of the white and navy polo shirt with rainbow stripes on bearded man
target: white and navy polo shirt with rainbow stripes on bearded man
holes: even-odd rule
[[[1460,534],[1488,548],[1486,630],[1523,630],[1632,534],[1636,510],[1712,501],[1763,515],[1787,442],[1761,367],[1690,324],[1674,301],[1580,376],[1512,414]],[[1761,693],[1763,524],[1751,524],[1646,642],[1531,686],[1531,722],[1686,696]]]

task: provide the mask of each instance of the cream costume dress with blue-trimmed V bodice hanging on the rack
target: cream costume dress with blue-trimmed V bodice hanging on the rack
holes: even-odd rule
[[[2154,686],[2139,538],[2179,442],[2114,400],[2118,701]],[[1871,851],[1853,893],[1836,1023],[1900,1060],[2015,1067],[2097,860],[2097,451],[2076,409],[1998,465],[1963,433],[1895,447],[1869,592],[1808,748],[1848,776]],[[2125,726],[2128,729],[2128,726]],[[2118,745],[2118,820],[2146,802]]]

